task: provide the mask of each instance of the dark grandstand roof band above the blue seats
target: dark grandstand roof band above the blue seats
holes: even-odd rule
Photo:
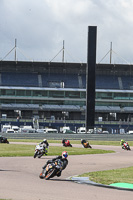
[[[86,74],[86,63],[1,61],[0,72],[80,73]],[[97,74],[133,74],[133,65],[96,64]]]

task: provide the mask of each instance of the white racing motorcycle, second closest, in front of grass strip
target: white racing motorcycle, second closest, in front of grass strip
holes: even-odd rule
[[[46,147],[44,148],[42,145],[40,146],[38,144],[35,147],[34,158],[36,158],[36,157],[41,158],[44,154],[47,155],[47,153],[48,153],[47,148]]]

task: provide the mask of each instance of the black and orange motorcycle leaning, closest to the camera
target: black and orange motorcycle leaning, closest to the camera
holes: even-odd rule
[[[56,161],[47,164],[46,168],[42,170],[39,177],[41,179],[48,180],[50,178],[53,178],[54,176],[58,176],[58,173],[60,173],[62,167],[63,162],[60,159],[57,159]]]

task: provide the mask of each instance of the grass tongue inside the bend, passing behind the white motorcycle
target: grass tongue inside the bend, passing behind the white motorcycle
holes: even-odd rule
[[[17,156],[33,156],[35,145],[25,144],[0,144],[0,157],[17,157]],[[75,147],[55,147],[50,146],[48,155],[61,155],[62,151],[67,150],[69,155],[83,155],[83,154],[103,154],[113,153],[114,151],[106,151],[100,149],[84,149]]]

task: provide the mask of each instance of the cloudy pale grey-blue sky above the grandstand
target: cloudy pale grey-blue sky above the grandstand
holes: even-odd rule
[[[133,0],[0,0],[0,60],[87,62],[97,27],[96,63],[133,64]],[[15,47],[16,39],[16,47]]]

